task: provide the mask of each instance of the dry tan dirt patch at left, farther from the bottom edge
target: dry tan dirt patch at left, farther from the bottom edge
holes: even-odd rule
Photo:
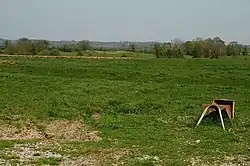
[[[43,131],[29,123],[21,127],[0,123],[0,140],[54,139],[100,141],[99,131],[89,131],[80,121],[56,120],[44,125]]]

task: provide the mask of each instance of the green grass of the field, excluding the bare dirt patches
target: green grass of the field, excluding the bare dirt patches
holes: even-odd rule
[[[101,131],[98,143],[70,144],[76,149],[72,154],[126,148],[134,152],[126,159],[128,165],[154,165],[137,159],[143,155],[158,156],[163,165],[188,165],[195,157],[223,162],[224,156],[250,155],[249,58],[1,59],[19,63],[0,64],[0,119],[82,118]],[[210,120],[194,130],[201,104],[214,98],[236,101],[236,119],[226,122],[230,131]],[[101,114],[99,122],[91,120],[94,112]],[[0,141],[1,146],[11,143]]]

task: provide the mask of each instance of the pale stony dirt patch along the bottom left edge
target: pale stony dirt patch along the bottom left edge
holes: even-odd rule
[[[128,150],[98,150],[79,157],[71,155],[63,155],[55,152],[56,149],[61,149],[61,145],[56,142],[37,142],[26,144],[15,144],[13,148],[5,149],[0,152],[5,156],[16,156],[15,159],[0,159],[0,165],[11,165],[18,163],[19,165],[30,165],[45,158],[54,158],[60,161],[60,166],[102,166],[108,165],[123,165],[122,157],[128,155]]]

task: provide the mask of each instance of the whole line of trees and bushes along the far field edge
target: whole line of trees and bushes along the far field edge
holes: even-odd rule
[[[9,55],[60,55],[60,52],[76,52],[82,56],[84,51],[129,51],[154,54],[157,58],[183,58],[185,55],[193,58],[219,58],[223,56],[248,55],[247,46],[236,41],[226,44],[221,38],[196,38],[183,42],[175,39],[168,43],[154,43],[151,46],[140,47],[137,43],[125,43],[120,48],[93,47],[91,42],[83,40],[55,46],[47,40],[29,40],[20,38],[16,42],[5,41],[2,53]]]

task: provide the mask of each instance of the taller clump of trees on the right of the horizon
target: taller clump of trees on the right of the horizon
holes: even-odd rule
[[[171,43],[156,43],[154,54],[158,58],[182,58],[184,55],[190,55],[193,58],[219,58],[222,56],[246,56],[248,48],[235,41],[225,44],[219,37],[205,40],[197,38],[187,42],[174,40]]]

